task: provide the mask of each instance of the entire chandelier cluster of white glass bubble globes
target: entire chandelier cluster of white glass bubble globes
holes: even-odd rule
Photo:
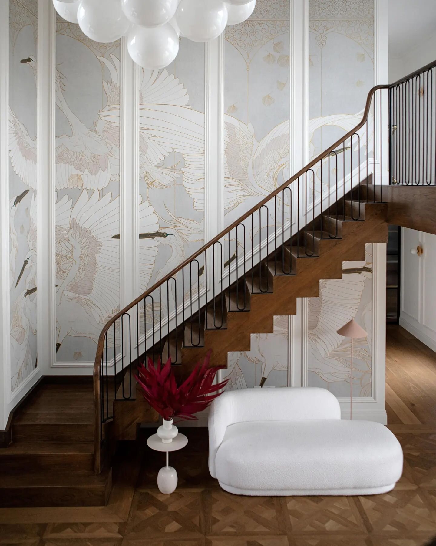
[[[250,17],[256,0],[53,0],[57,13],[103,43],[127,38],[130,57],[143,68],[172,63],[179,37],[210,41],[226,25]]]

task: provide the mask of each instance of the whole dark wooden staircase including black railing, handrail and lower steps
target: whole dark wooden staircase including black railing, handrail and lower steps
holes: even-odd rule
[[[46,382],[35,390],[13,418],[12,443],[0,449],[0,506],[104,505],[116,441],[135,440],[140,423],[158,420],[136,385],[138,363],[171,358],[181,380],[212,349],[211,365],[227,367],[229,352],[250,351],[252,334],[272,333],[274,316],[295,314],[296,298],[319,296],[320,280],[341,278],[344,261],[364,260],[367,243],[385,242],[389,223],[436,233],[436,152],[422,146],[422,157],[414,155],[424,130],[432,142],[436,109],[427,108],[422,132],[410,125],[416,108],[408,110],[433,93],[433,71],[436,61],[374,87],[358,126],[113,316],[99,337],[93,387]],[[389,104],[389,143],[382,102]],[[376,103],[379,135],[370,119]],[[386,151],[389,186],[381,186]]]

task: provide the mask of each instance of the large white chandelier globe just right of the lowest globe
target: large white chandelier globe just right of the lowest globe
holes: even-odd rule
[[[227,9],[221,0],[181,0],[177,22],[180,33],[190,40],[213,40],[227,25]]]

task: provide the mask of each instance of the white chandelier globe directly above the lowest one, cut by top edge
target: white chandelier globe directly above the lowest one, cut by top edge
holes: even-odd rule
[[[125,16],[143,27],[165,25],[175,14],[178,0],[121,0]]]

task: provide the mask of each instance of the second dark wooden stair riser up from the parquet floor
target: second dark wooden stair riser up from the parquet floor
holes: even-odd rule
[[[93,470],[94,455],[91,453],[50,453],[2,455],[0,469],[8,472],[25,472],[33,468],[35,472]]]

